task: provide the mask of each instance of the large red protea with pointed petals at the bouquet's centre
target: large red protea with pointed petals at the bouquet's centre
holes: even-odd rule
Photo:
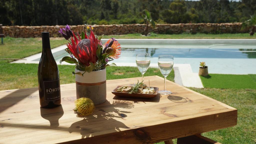
[[[72,33],[74,35],[73,31]],[[90,36],[85,35],[85,39],[82,40],[79,34],[78,38],[74,35],[71,37],[71,44],[69,43],[67,46],[74,57],[84,66],[90,66],[90,63],[95,64],[98,60],[96,55],[98,39],[95,38],[92,30]]]

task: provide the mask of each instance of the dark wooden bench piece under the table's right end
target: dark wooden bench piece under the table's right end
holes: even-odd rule
[[[177,139],[177,144],[221,144],[201,135],[193,135]]]

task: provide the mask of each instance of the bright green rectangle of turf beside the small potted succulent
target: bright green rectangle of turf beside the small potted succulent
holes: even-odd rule
[[[256,75],[210,74],[200,78],[205,88],[256,89]]]

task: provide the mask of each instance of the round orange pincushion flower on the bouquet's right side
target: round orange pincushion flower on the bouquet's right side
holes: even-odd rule
[[[117,40],[114,38],[109,39],[105,44],[104,44],[104,50],[103,53],[109,54],[109,57],[111,58],[119,58],[121,54],[121,47],[120,44],[118,43]]]

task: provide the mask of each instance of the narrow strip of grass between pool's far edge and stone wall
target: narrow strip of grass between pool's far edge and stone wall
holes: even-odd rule
[[[103,38],[162,38],[162,39],[255,39],[256,34],[250,36],[249,33],[239,33],[239,34],[202,34],[197,33],[192,34],[151,34],[151,36],[141,36],[141,34],[125,34],[125,35],[104,35]]]

